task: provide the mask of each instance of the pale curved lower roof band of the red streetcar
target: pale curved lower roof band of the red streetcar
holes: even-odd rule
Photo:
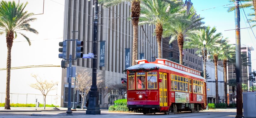
[[[171,70],[171,71],[174,71],[174,72],[182,73],[182,74],[185,74],[185,75],[189,75],[189,76],[192,76],[192,77],[195,77],[195,78],[200,78],[200,79],[205,80],[201,76],[198,76],[198,75],[195,75],[195,74],[192,74],[192,73],[189,73],[189,72],[181,71],[179,69],[175,69],[173,67],[165,66],[165,65],[162,65],[162,64],[158,64],[158,63],[142,63],[142,64],[137,64],[137,65],[134,65],[134,66],[130,66],[127,69],[129,69],[129,70],[142,69],[142,68],[144,68],[144,69],[152,69],[152,68],[155,68],[155,67],[160,68],[160,69]]]

